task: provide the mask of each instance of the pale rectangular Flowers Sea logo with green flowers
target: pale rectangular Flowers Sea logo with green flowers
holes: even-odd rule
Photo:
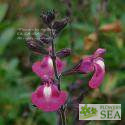
[[[121,104],[79,104],[79,120],[121,120]]]

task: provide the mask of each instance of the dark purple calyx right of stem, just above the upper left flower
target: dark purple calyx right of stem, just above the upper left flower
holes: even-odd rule
[[[70,48],[65,48],[62,49],[61,51],[57,52],[56,55],[60,58],[62,57],[67,57],[71,54],[71,49]]]

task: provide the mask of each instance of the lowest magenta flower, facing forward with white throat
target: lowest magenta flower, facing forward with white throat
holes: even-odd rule
[[[44,84],[32,93],[32,103],[45,112],[57,111],[67,100],[68,94],[54,84]]]

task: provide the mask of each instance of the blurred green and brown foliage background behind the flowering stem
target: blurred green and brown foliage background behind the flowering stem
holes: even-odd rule
[[[86,124],[124,125],[125,0],[0,0],[0,125],[56,125],[56,113],[44,113],[31,104],[31,92],[40,84],[31,66],[41,57],[28,50],[26,41],[18,39],[17,34],[19,28],[44,28],[42,9],[55,9],[59,18],[71,17],[71,24],[56,40],[57,50],[73,50],[67,67],[99,47],[107,50],[105,79],[99,89],[85,96],[83,103],[122,104],[122,120]],[[86,89],[88,81],[83,75],[64,78],[61,87],[68,90],[78,78]],[[71,112],[68,125],[73,125],[73,119]]]

